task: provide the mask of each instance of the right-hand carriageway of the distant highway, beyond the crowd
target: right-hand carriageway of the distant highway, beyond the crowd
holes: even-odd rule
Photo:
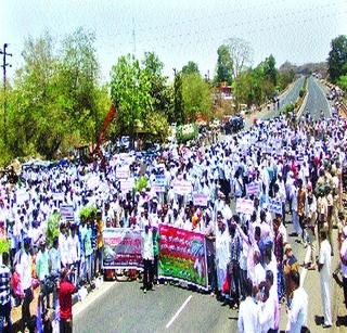
[[[310,76],[308,78],[308,98],[307,103],[305,105],[305,110],[303,115],[305,116],[309,113],[313,120],[320,117],[321,111],[323,111],[325,117],[331,117],[331,107],[325,98],[324,88],[321,82]]]

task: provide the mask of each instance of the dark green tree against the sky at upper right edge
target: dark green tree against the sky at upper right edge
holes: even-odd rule
[[[347,36],[340,35],[332,40],[327,57],[329,75],[333,82],[347,74]]]

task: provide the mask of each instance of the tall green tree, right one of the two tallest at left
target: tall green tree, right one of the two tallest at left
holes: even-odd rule
[[[95,142],[107,108],[98,107],[100,66],[95,34],[78,28],[62,43],[56,87],[67,106],[72,129],[86,142]]]

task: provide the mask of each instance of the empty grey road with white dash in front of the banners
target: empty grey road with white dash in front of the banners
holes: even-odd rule
[[[74,319],[82,332],[236,332],[236,313],[214,297],[175,285],[143,294],[139,282],[120,282]],[[187,300],[189,299],[189,300]],[[166,328],[176,312],[185,307]],[[233,318],[232,318],[233,317]]]

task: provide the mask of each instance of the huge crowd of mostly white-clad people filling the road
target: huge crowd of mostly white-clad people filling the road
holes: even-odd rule
[[[240,332],[278,332],[282,303],[288,307],[287,331],[300,332],[308,295],[300,284],[301,262],[288,242],[293,223],[291,236],[309,249],[305,267],[319,270],[324,326],[331,326],[333,255],[339,257],[347,307],[346,128],[338,117],[293,123],[281,116],[232,136],[213,136],[208,144],[176,144],[151,157],[108,156],[105,168],[76,162],[33,166],[15,185],[3,176],[0,223],[10,252],[0,267],[1,328],[11,326],[11,305],[18,304],[23,329],[29,325],[37,284],[42,310],[60,305],[62,332],[72,330],[70,295],[102,273],[104,228],[144,230],[143,292],[152,289],[158,282],[159,223],[205,234],[210,293],[239,309]],[[128,178],[145,177],[147,187],[139,192],[125,187],[119,179],[125,169]],[[176,181],[189,183],[190,191],[177,191]],[[194,193],[204,194],[206,205],[194,205]],[[252,213],[235,208],[242,198],[252,201]],[[281,202],[281,212],[271,210],[271,200]],[[72,206],[74,218],[61,221],[48,244],[48,220],[61,205]],[[86,220],[79,213],[88,205],[98,214]]]

